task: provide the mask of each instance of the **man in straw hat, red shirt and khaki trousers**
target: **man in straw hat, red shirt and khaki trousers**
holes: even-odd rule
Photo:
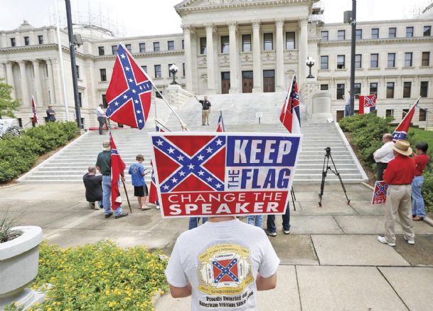
[[[385,236],[378,236],[380,243],[395,246],[395,218],[397,214],[402,224],[407,243],[415,244],[415,232],[412,225],[410,196],[412,180],[415,176],[415,162],[409,156],[412,148],[409,142],[397,140],[392,146],[395,159],[391,160],[383,179],[389,185],[385,204]]]

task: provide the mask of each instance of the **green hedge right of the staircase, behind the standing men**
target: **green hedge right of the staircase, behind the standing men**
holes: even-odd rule
[[[344,117],[339,122],[341,129],[349,132],[352,144],[358,149],[358,158],[366,167],[375,172],[375,161],[373,152],[382,146],[382,135],[392,133],[395,125],[389,125],[390,118],[377,117],[373,113],[365,115],[353,115]],[[433,132],[432,132],[433,135]],[[410,130],[406,139],[410,142],[412,149],[418,142],[426,141],[425,137],[430,137],[429,133],[423,130]],[[433,145],[429,144],[427,151],[429,157],[433,159]],[[422,185],[422,196],[424,198],[427,211],[433,211],[433,164],[430,161],[429,166],[424,171],[424,184]]]

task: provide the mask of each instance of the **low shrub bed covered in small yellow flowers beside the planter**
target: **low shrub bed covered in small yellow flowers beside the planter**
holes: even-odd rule
[[[152,297],[168,288],[161,255],[110,241],[67,249],[42,243],[33,288],[51,288],[33,310],[154,310]]]

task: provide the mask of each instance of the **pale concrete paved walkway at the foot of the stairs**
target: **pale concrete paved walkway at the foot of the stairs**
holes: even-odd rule
[[[377,241],[383,233],[383,206],[371,206],[372,190],[362,184],[326,184],[318,207],[319,184],[294,186],[296,211],[291,231],[269,238],[279,258],[278,285],[259,292],[260,310],[432,310],[433,227],[414,222],[415,246],[409,246],[396,226],[397,246]],[[132,189],[129,189],[131,195]],[[19,225],[43,228],[49,243],[75,246],[104,238],[120,246],[145,245],[171,253],[188,220],[164,220],[156,209],[105,219],[90,209],[82,184],[23,184],[0,189],[0,211],[18,217]],[[127,210],[127,208],[125,209]],[[161,297],[156,310],[189,310],[189,298]]]

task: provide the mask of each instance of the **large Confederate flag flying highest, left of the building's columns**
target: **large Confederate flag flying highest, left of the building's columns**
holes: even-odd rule
[[[122,44],[107,90],[107,117],[130,127],[144,127],[150,110],[151,80]]]

